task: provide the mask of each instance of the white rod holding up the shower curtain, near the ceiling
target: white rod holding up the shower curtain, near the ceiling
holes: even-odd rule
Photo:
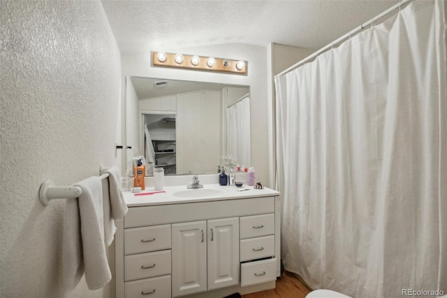
[[[302,59],[300,62],[294,64],[293,66],[289,67],[288,69],[286,69],[285,71],[281,71],[280,73],[278,73],[276,76],[274,76],[274,78],[278,77],[278,76],[282,76],[290,71],[293,71],[294,69],[297,69],[299,66],[301,66],[302,64],[305,64],[307,61],[314,59],[315,57],[317,57],[318,55],[320,55],[322,52],[325,52],[326,50],[329,50],[329,48],[332,48],[332,46],[336,45],[337,43],[340,43],[342,41],[344,41],[347,38],[351,38],[351,36],[353,36],[354,34],[357,34],[358,32],[362,31],[363,29],[365,29],[365,27],[369,26],[370,24],[376,22],[376,20],[381,19],[382,17],[393,13],[394,10],[400,9],[402,8],[402,6],[404,6],[406,3],[409,3],[411,1],[414,0],[402,0],[399,3],[395,4],[394,6],[388,8],[387,10],[385,10],[383,13],[381,13],[380,15],[377,15],[376,17],[373,17],[371,20],[361,24],[359,27],[357,27],[356,29],[353,29],[352,31],[349,31],[347,34],[344,34],[344,36],[338,38],[335,41],[332,41],[332,43],[329,43],[328,45],[326,45],[325,47],[321,48],[320,50],[314,52],[312,55],[305,57],[305,59]]]

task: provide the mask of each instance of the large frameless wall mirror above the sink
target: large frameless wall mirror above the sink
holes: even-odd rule
[[[249,86],[126,78],[126,174],[144,157],[147,176],[217,173],[221,157],[251,164]],[[129,148],[131,147],[131,148]]]

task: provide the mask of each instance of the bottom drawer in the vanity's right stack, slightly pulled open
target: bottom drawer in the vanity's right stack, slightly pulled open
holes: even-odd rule
[[[256,262],[248,262],[240,265],[240,285],[255,285],[274,281],[276,274],[277,259],[268,259]]]

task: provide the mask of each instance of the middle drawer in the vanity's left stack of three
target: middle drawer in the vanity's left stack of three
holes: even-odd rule
[[[124,257],[124,281],[170,274],[170,250]]]

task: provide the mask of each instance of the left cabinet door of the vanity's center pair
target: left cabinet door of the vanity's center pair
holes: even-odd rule
[[[173,224],[173,297],[207,290],[206,221]]]

